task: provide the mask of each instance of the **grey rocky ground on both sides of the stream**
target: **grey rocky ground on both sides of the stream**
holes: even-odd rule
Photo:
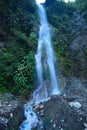
[[[39,120],[43,122],[42,130],[87,130],[87,81],[75,77],[65,81],[61,95],[34,106]],[[25,120],[25,103],[11,94],[0,95],[0,130],[19,129]]]

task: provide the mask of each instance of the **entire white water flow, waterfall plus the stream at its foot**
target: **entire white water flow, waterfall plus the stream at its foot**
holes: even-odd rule
[[[38,48],[37,53],[35,55],[39,87],[33,93],[33,98],[30,101],[30,103],[25,105],[26,121],[24,121],[23,124],[20,126],[20,130],[31,130],[32,128],[36,127],[38,123],[40,123],[40,121],[37,118],[37,115],[33,111],[33,105],[37,105],[40,102],[48,100],[52,95],[60,94],[54,67],[54,52],[51,46],[51,36],[49,31],[50,28],[48,26],[46,13],[43,5],[41,5],[38,2],[38,0],[36,0],[36,3],[39,9],[41,23],[39,31]],[[43,47],[45,50],[45,54],[43,54]],[[45,58],[43,58],[43,55],[45,55]],[[50,87],[44,84],[43,64],[45,66],[45,69],[49,68],[51,81]]]

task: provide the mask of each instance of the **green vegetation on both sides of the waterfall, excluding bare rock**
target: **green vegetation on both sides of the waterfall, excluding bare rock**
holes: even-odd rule
[[[45,7],[54,30],[52,41],[56,57],[62,62],[64,75],[68,75],[73,65],[68,45],[74,39],[69,23],[76,8],[87,21],[87,1],[76,0],[66,4],[63,0],[47,0]],[[0,1],[0,41],[5,44],[0,51],[0,92],[24,95],[32,90],[38,21],[35,1]],[[86,57],[87,50],[84,52]]]

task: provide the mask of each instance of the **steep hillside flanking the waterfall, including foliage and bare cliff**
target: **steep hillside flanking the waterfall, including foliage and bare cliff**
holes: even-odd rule
[[[57,57],[56,71],[64,76],[87,77],[86,1],[84,2],[77,0],[76,3],[66,4],[63,1],[47,0],[44,5]],[[80,5],[83,5],[81,9]],[[35,1],[0,1],[2,93],[24,96],[33,89],[39,24]]]

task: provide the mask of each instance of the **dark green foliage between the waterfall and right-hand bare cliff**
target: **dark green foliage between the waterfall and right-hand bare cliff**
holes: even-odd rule
[[[54,26],[53,46],[56,51],[56,57],[59,59],[58,67],[62,67],[64,75],[79,75],[79,71],[83,71],[76,62],[75,57],[78,52],[72,54],[69,44],[77,37],[76,33],[71,32],[71,21],[74,21],[74,12],[80,11],[82,16],[87,15],[87,1],[76,0],[75,3],[65,3],[63,0],[47,0],[46,9],[48,20]],[[75,30],[72,26],[72,30]],[[85,54],[85,53],[84,53]]]

